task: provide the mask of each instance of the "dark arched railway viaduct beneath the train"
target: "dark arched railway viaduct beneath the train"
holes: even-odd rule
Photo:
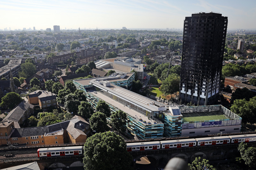
[[[239,144],[212,145],[190,148],[163,149],[154,151],[138,151],[130,152],[134,161],[147,156],[150,162],[154,162],[156,166],[160,162],[167,163],[173,157],[180,157],[187,162],[192,162],[196,157],[208,159],[210,161],[231,159],[239,156],[237,150]],[[256,143],[248,143],[248,146],[256,147]],[[15,152],[15,151],[14,151]],[[20,159],[15,161],[0,162],[0,169],[10,166],[22,165],[30,162],[37,162],[40,169],[49,167],[77,167],[83,166],[83,155],[66,156],[66,157],[48,157],[48,158],[33,158]]]

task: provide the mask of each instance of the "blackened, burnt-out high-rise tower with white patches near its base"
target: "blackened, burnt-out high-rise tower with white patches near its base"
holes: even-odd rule
[[[228,17],[196,13],[184,20],[180,74],[181,100],[207,105],[217,97]]]

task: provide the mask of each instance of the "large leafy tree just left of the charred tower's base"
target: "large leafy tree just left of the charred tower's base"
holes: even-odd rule
[[[164,94],[173,94],[179,91],[180,88],[180,76],[177,74],[171,74],[166,78],[161,85],[161,92]]]

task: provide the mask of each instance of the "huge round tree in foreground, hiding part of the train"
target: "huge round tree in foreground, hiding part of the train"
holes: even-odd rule
[[[132,156],[126,150],[124,138],[114,132],[96,133],[84,144],[86,170],[129,170]]]

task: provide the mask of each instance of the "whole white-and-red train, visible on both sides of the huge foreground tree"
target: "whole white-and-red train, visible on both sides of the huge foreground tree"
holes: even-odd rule
[[[255,142],[256,134],[128,143],[128,152]],[[39,148],[38,157],[82,155],[83,146]]]

